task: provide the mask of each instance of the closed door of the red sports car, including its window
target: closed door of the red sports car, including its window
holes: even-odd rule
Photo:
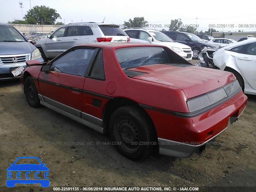
[[[80,117],[86,70],[95,57],[95,48],[76,48],[50,62],[50,71],[41,72],[39,86],[45,102]]]

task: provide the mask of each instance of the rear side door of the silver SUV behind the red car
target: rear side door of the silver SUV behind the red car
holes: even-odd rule
[[[80,44],[79,27],[80,26],[68,26],[66,36],[62,39],[62,50],[66,51]]]

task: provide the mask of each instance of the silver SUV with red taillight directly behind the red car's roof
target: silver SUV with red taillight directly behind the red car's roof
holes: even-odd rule
[[[78,44],[130,41],[129,36],[119,25],[94,22],[68,24],[48,34],[47,37],[36,44],[44,60],[55,58]]]

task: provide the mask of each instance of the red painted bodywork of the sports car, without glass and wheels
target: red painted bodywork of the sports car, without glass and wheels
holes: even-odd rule
[[[188,98],[209,92],[234,80],[232,73],[220,70],[160,64],[130,69],[148,74],[129,78],[124,74],[116,59],[115,49],[153,45],[115,43],[79,46],[103,49],[105,80],[59,72],[40,72],[41,66],[29,66],[22,72],[21,84],[23,84],[23,75],[29,73],[38,79],[35,80],[38,93],[102,119],[103,108],[109,98],[92,93],[112,98],[128,98],[138,104],[187,113],[189,112],[186,104]],[[86,92],[72,91],[40,80],[71,86]],[[93,99],[102,100],[101,106],[93,106]],[[241,91],[230,100],[193,118],[165,114],[161,110],[145,110],[154,123],[158,137],[178,142],[204,142],[224,130],[230,116],[241,114],[246,102],[247,97]]]

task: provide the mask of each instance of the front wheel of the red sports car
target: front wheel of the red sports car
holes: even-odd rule
[[[40,106],[40,100],[38,97],[38,92],[36,89],[36,85],[32,77],[27,77],[24,83],[25,96],[28,104],[34,108],[38,108]]]

